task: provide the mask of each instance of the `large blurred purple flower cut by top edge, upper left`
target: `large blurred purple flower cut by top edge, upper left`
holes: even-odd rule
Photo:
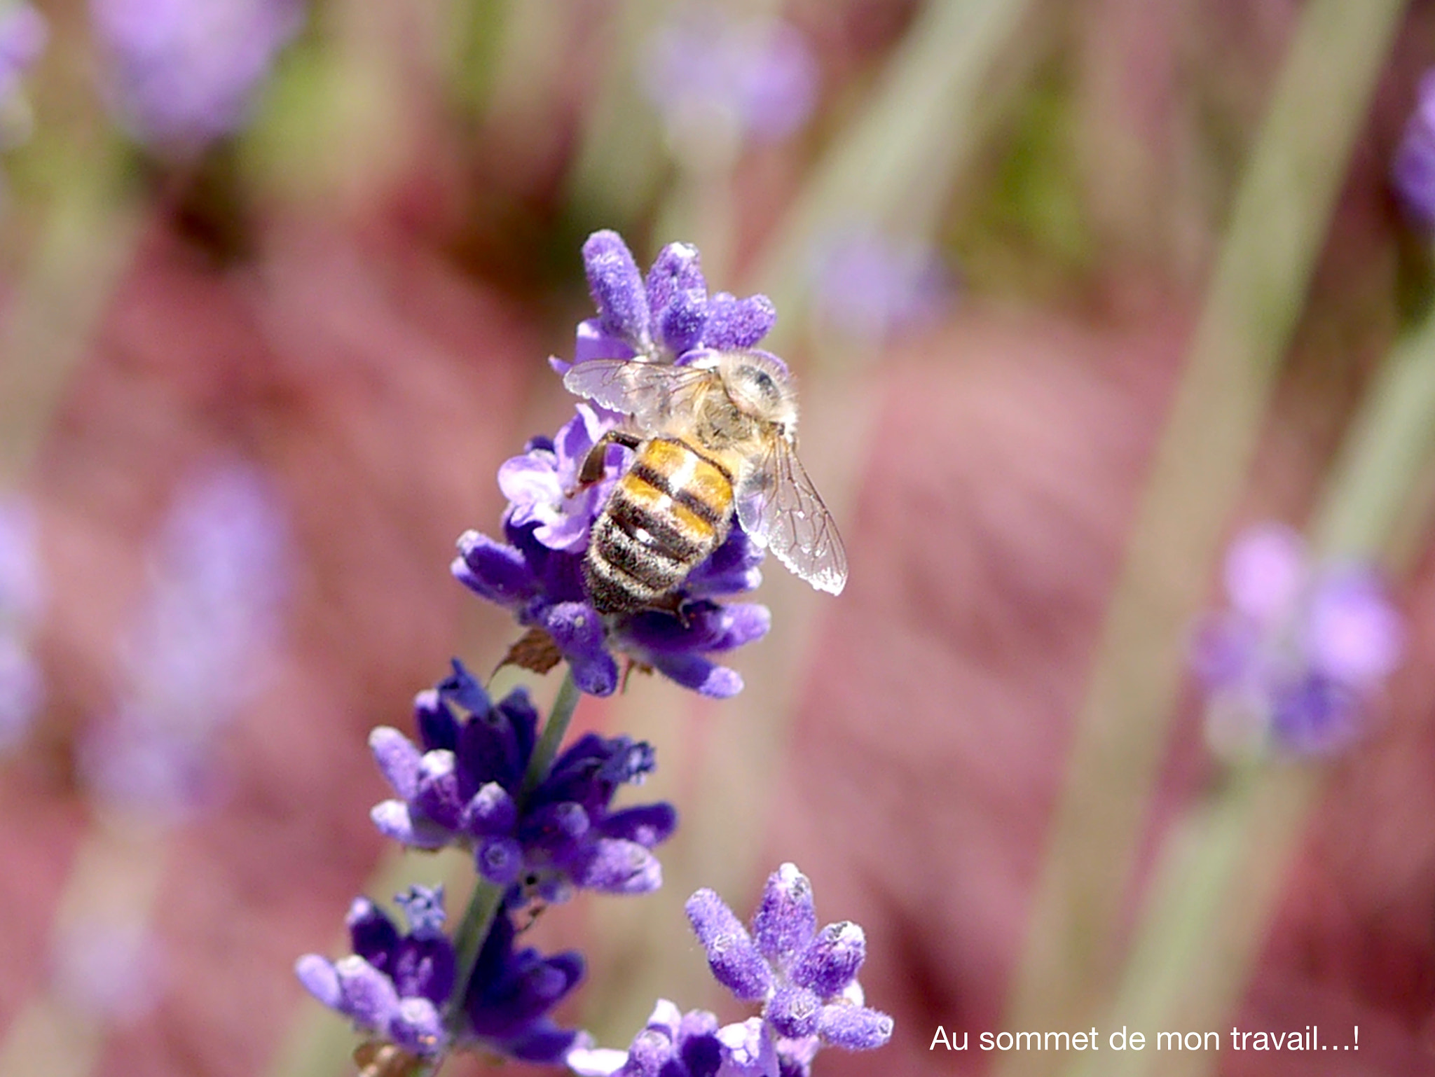
[[[248,118],[301,0],[90,0],[106,92],[131,133],[192,152]]]

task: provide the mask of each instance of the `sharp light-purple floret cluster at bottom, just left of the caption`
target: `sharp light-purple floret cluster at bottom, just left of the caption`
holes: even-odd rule
[[[891,1018],[862,1005],[862,929],[839,922],[814,931],[812,885],[795,865],[768,879],[751,935],[712,891],[689,899],[687,918],[718,981],[740,1000],[763,1001],[784,1074],[808,1074],[824,1045],[862,1051],[891,1038]]]

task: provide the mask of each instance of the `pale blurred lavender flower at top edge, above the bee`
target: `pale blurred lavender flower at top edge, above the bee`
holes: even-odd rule
[[[643,89],[680,152],[715,141],[779,142],[812,115],[818,66],[796,27],[695,3],[653,39]]]

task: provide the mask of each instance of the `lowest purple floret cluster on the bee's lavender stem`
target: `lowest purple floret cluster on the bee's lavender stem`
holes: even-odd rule
[[[408,932],[357,898],[346,921],[353,955],[329,961],[306,954],[296,962],[296,975],[314,998],[419,1058],[441,1057],[452,1047],[530,1063],[564,1055],[575,1034],[554,1025],[548,1012],[583,979],[578,954],[544,958],[531,948],[515,951],[512,922],[501,915],[472,978],[459,988],[465,1021],[451,1037],[443,1011],[455,994],[456,952],[443,932],[443,888],[415,886],[399,903]]]

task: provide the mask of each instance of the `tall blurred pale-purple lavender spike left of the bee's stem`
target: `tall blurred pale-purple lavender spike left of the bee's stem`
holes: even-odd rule
[[[122,648],[125,691],[82,744],[99,797],[161,816],[210,799],[215,741],[264,683],[286,546],[283,509],[257,469],[222,463],[181,486]]]

